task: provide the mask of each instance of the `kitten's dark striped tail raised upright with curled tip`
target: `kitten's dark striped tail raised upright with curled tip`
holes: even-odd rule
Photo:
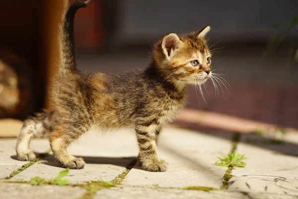
[[[69,6],[63,13],[62,24],[59,27],[60,67],[59,73],[76,72],[74,50],[74,15],[75,12],[87,6],[90,0],[69,0]]]

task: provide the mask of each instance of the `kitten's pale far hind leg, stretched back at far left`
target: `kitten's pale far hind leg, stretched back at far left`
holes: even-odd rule
[[[38,113],[35,117],[25,120],[16,142],[16,156],[21,161],[33,161],[35,154],[30,149],[32,138],[48,137],[54,125],[54,112]]]

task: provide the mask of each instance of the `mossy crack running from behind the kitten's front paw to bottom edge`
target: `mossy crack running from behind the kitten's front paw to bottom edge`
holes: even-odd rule
[[[97,191],[102,189],[108,189],[111,187],[116,187],[117,185],[121,184],[123,179],[126,175],[130,172],[130,170],[136,165],[137,159],[132,160],[127,166],[126,169],[119,174],[116,178],[112,181],[90,181],[86,184],[78,184],[78,185],[71,185],[73,187],[81,187],[86,189],[87,191],[79,198],[79,199],[93,199],[94,195]]]

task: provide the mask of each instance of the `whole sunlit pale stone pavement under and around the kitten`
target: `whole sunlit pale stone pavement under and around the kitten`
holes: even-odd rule
[[[199,112],[182,110],[180,116],[189,112],[197,117]],[[206,115],[205,115],[206,116]],[[207,115],[210,119],[213,115]],[[218,115],[214,115],[216,118]],[[222,115],[223,116],[223,115]],[[224,117],[224,116],[223,116]],[[204,120],[204,115],[199,121]],[[228,118],[229,121],[236,118]],[[179,116],[178,116],[178,120]],[[15,158],[15,139],[0,139],[0,198],[40,198],[54,194],[55,198],[80,198],[88,193],[76,185],[90,181],[113,181],[123,171],[122,182],[116,187],[102,188],[94,198],[295,198],[298,196],[298,134],[295,129],[287,132],[264,130],[255,133],[220,132],[208,133],[195,130],[195,119],[180,120],[175,126],[166,126],[158,142],[159,157],[168,163],[164,173],[151,173],[142,170],[136,162],[138,146],[133,128],[123,128],[110,132],[92,130],[74,143],[69,152],[83,157],[86,166],[82,170],[71,170],[64,178],[67,186],[31,186],[33,177],[55,178],[63,168],[54,160],[51,153],[16,175],[28,162]],[[253,121],[246,121],[247,124]],[[219,122],[220,123],[220,122]],[[184,126],[183,126],[184,125]],[[221,124],[219,124],[221,125]],[[262,126],[263,125],[263,126]],[[183,127],[183,128],[182,128]],[[192,129],[192,130],[191,130]],[[261,128],[260,128],[261,129]],[[239,130],[239,129],[238,129]],[[238,135],[238,136],[235,136]],[[45,152],[50,149],[47,140],[34,140],[32,149]],[[232,169],[232,177],[224,186],[227,167],[217,166],[218,157],[229,152],[247,157],[244,168]],[[127,169],[128,168],[128,169]],[[11,177],[7,180],[5,178]],[[16,183],[18,182],[18,183]],[[202,189],[211,190],[208,192]],[[38,193],[38,194],[37,194]],[[58,194],[64,193],[64,194]]]

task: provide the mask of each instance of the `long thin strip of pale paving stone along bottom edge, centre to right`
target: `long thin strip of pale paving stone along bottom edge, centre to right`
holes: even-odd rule
[[[296,199],[294,196],[228,191],[204,192],[197,190],[152,189],[144,187],[116,187],[103,189],[94,199]]]

